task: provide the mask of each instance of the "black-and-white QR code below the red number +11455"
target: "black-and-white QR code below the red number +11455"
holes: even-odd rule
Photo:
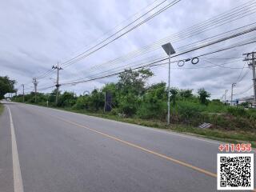
[[[254,154],[218,154],[218,190],[254,190]]]

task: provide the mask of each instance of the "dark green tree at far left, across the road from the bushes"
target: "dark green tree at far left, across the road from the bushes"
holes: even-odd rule
[[[4,98],[4,95],[7,93],[15,93],[16,90],[14,89],[16,81],[10,80],[9,77],[1,77],[0,76],[0,99]]]

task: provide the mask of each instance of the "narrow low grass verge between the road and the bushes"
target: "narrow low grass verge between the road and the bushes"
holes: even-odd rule
[[[56,108],[56,107],[54,107]],[[201,129],[194,126],[187,126],[182,124],[171,124],[166,126],[166,122],[159,120],[145,120],[141,118],[118,118],[116,115],[112,114],[102,114],[102,113],[90,113],[85,110],[71,110],[70,108],[57,108],[59,110],[72,111],[79,114],[87,114],[90,116],[98,118],[107,118],[118,122],[128,122],[140,126],[154,127],[158,129],[170,130],[183,134],[190,134],[194,136],[200,136],[203,138],[210,138],[218,140],[221,142],[229,143],[247,143],[250,142],[251,145],[256,147],[256,132],[246,132],[242,130],[218,130],[218,129]]]

